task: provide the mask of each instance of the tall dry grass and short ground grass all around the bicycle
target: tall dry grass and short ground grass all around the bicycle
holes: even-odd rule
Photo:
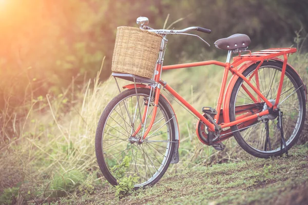
[[[307,54],[295,55],[290,57],[289,61],[307,82]],[[188,68],[167,72],[163,74],[163,79],[192,106],[200,108],[201,111],[203,106],[216,105],[222,72],[223,69],[215,66],[209,66],[206,69]],[[175,78],[175,76],[178,77]],[[125,84],[127,84],[126,81],[120,81],[120,85]],[[2,116],[5,123],[0,144],[0,193],[11,193],[6,188],[14,188],[14,194],[9,197],[13,196],[20,200],[24,198],[24,201],[34,203],[57,200],[64,195],[80,198],[63,199],[61,203],[79,200],[82,204],[84,200],[95,204],[95,200],[96,202],[102,200],[102,195],[106,202],[119,202],[113,201],[114,189],[109,187],[102,176],[94,154],[94,136],[98,119],[110,99],[117,94],[118,90],[113,78],[100,83],[97,77],[89,80],[82,88],[75,86],[72,81],[61,95],[46,95],[32,99],[24,119],[16,119],[16,113],[8,115],[4,110]],[[163,94],[169,98],[165,92]],[[138,197],[142,197],[144,202],[149,203],[159,203],[160,200],[167,203],[182,203],[181,200],[186,202],[194,200],[196,203],[202,200],[217,203],[228,200],[236,202],[242,200],[237,192],[246,192],[247,186],[251,189],[261,186],[264,178],[270,181],[262,175],[264,169],[267,169],[268,176],[276,176],[272,172],[279,170],[276,169],[276,164],[275,166],[272,164],[276,159],[266,161],[253,158],[245,153],[233,138],[224,141],[227,148],[222,152],[201,144],[195,134],[197,119],[184,112],[185,110],[173,99],[169,99],[177,112],[181,132],[180,162],[170,165],[165,177],[155,188],[136,192],[128,198],[121,199],[121,203],[137,203]],[[305,122],[300,142],[307,139],[307,133],[307,122]],[[276,162],[281,166],[290,166],[290,169],[295,166],[297,170],[300,167],[295,164],[295,161],[302,163],[303,160],[304,157],[277,159]],[[222,162],[228,163],[219,165],[219,171],[217,171],[218,167],[215,164]],[[267,165],[272,165],[272,168],[264,168],[265,162]],[[257,164],[262,166],[258,167]],[[212,165],[213,167],[210,167]],[[241,171],[240,168],[244,170]],[[305,173],[304,169],[302,171]],[[220,175],[219,173],[222,172],[230,174]],[[194,173],[197,178],[190,180],[190,178],[193,179],[191,173]],[[237,173],[241,173],[239,176],[247,175],[252,178],[237,180],[236,177],[239,177]],[[258,176],[253,176],[254,173]],[[297,179],[294,181],[305,179],[302,178],[305,175],[299,172],[295,177]],[[180,180],[181,178],[183,180]],[[273,185],[268,185],[268,189],[272,189],[274,194],[275,190],[280,189],[279,186],[293,183],[290,180],[292,181],[293,178],[285,175],[285,180],[276,180]],[[296,185],[299,183],[300,181]],[[189,187],[194,189],[190,190]],[[231,189],[232,191],[227,189],[234,187],[237,189]],[[92,193],[93,189],[104,191],[98,191],[88,201],[89,196],[84,194]],[[258,192],[261,194],[262,190]],[[225,198],[224,195],[229,198]],[[247,197],[250,200],[254,194]]]

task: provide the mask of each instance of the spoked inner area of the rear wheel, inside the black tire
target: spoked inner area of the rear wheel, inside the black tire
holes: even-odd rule
[[[264,62],[263,64],[268,65],[277,65],[271,62]],[[258,69],[259,75],[259,90],[260,92],[271,101],[272,104],[275,103],[277,92],[280,84],[280,76],[281,76],[281,67],[277,66],[264,66]],[[252,76],[252,73],[255,70],[251,69],[251,73],[246,75],[246,78]],[[290,77],[291,76],[291,77]],[[251,83],[256,86],[257,79],[251,78]],[[241,109],[237,108],[237,106],[242,106],[247,104],[247,95],[244,89],[242,88],[242,84],[244,81],[241,81],[241,84],[237,86],[236,90],[236,98],[234,100],[233,111],[235,112],[235,118],[247,115],[249,112],[257,112],[264,111],[264,106],[260,107],[252,107],[252,109]],[[302,120],[301,113],[303,113],[302,103],[299,100],[299,93],[301,92],[300,87],[302,85],[297,86],[297,82],[292,78],[292,75],[286,71],[281,94],[280,94],[280,103],[279,109],[283,112],[282,126],[284,129],[284,138],[286,140],[286,145],[290,144],[293,140],[294,135],[298,132],[299,122]],[[268,109],[268,107],[265,107]],[[238,112],[241,111],[241,112]],[[245,129],[240,131],[239,135],[242,136],[243,140],[249,145],[249,149],[255,149],[259,152],[264,153],[276,153],[280,152],[280,141],[281,135],[280,131],[277,129],[277,117],[275,115],[270,116],[275,119],[269,119],[265,123],[265,127],[261,125],[254,126],[253,128]],[[265,119],[263,119],[264,121]]]

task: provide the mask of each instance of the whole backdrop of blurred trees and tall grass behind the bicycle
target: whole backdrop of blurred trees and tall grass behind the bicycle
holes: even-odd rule
[[[100,114],[118,93],[114,80],[106,80],[118,26],[137,27],[136,18],[147,16],[152,28],[212,30],[195,32],[211,47],[191,36],[169,36],[165,65],[225,60],[226,51],[213,43],[234,33],[249,35],[253,51],[297,47],[301,52],[289,62],[307,82],[307,11],[307,0],[0,0],[0,203],[18,193],[25,200],[26,195],[45,200],[50,193],[109,189],[93,155],[93,136]],[[163,77],[201,108],[216,104],[222,71],[209,66]],[[232,138],[223,152],[203,146],[193,132],[196,119],[172,105],[181,160],[168,173],[246,159]],[[308,138],[306,125],[300,143]]]

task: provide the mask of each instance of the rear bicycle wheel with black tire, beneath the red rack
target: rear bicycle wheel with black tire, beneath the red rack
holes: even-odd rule
[[[253,73],[253,71],[255,71],[258,64],[259,62],[248,67],[243,72],[243,75],[248,79],[248,77]],[[260,84],[262,83],[262,85],[260,85],[260,90],[262,94],[265,97],[267,97],[268,100],[271,99],[272,101],[274,101],[274,99],[276,99],[277,88],[278,88],[278,83],[279,83],[278,80],[280,79],[281,70],[282,70],[282,63],[279,61],[265,61],[258,70],[258,74],[260,78],[259,81],[260,81]],[[268,72],[266,73],[266,71]],[[263,75],[262,75],[262,72],[263,72]],[[277,76],[276,76],[276,73],[278,73]],[[261,77],[264,77],[263,80],[261,79]],[[268,80],[271,78],[273,79],[272,81]],[[245,99],[249,97],[247,97],[247,95],[245,95],[242,92],[242,87],[241,87],[242,83],[243,83],[242,78],[239,78],[236,81],[236,84],[234,86],[234,89],[230,97],[230,103],[229,103],[230,121],[234,121],[236,118],[235,106],[240,105],[240,104],[249,104],[248,100]],[[251,83],[253,83],[254,86],[256,85],[254,80],[252,80]],[[281,103],[281,105],[279,109],[283,112],[283,116],[285,116],[282,119],[284,120],[283,121],[284,138],[285,138],[286,145],[287,145],[286,147],[288,150],[296,143],[303,129],[303,126],[304,126],[305,113],[306,113],[305,91],[304,91],[304,86],[302,85],[302,81],[300,77],[289,66],[286,67],[283,83],[284,83],[283,85],[285,86],[283,86],[283,90],[280,95],[281,97],[280,97],[279,103]],[[244,84],[246,88],[249,88],[249,86],[245,82]],[[287,90],[289,88],[288,86],[290,86],[290,89],[291,89],[289,91]],[[252,90],[250,91],[251,93],[254,93],[254,91]],[[284,100],[284,98],[286,98],[286,100]],[[244,102],[247,101],[247,102],[243,103],[243,101]],[[250,103],[253,103],[253,101]],[[261,110],[264,110],[264,109],[265,109],[264,106],[263,106],[263,109],[261,107]],[[261,124],[258,124],[258,123],[261,123]],[[267,126],[267,131],[266,131],[266,126]],[[255,157],[269,158],[273,156],[279,156],[285,153],[284,148],[282,150],[280,149],[280,143],[281,143],[280,132],[277,130],[275,126],[277,126],[277,117],[274,119],[264,119],[260,122],[255,122],[253,127],[247,128],[246,130],[237,131],[238,130],[237,125],[232,126],[231,129],[232,131],[235,131],[234,136],[238,144],[246,152],[248,152],[249,154]],[[271,128],[271,130],[269,130],[269,128]],[[268,133],[269,141],[272,140],[271,148],[268,148],[268,150],[267,150],[267,147],[269,147],[269,143],[268,143],[268,140],[266,139],[266,132]],[[262,146],[264,146],[263,150],[262,150]]]

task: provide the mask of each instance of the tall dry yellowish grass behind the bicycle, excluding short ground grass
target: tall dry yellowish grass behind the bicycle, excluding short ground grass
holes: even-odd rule
[[[307,82],[308,56],[296,55],[290,60]],[[189,68],[166,72],[163,79],[201,111],[203,106],[216,105],[222,72],[215,66]],[[100,189],[105,186],[94,154],[94,136],[103,109],[119,91],[113,78],[100,83],[98,76],[82,89],[72,82],[62,95],[33,99],[24,120],[16,120],[16,114],[2,119],[11,124],[3,124],[2,139],[6,145],[2,142],[0,150],[0,192],[20,183],[21,190],[30,191],[30,198],[48,198],[60,196],[54,190],[78,194],[88,185]],[[120,85],[125,84],[120,81]],[[197,119],[163,94],[176,110],[181,132],[180,162],[169,167],[169,174],[251,157],[233,138],[224,142],[227,148],[223,152],[201,144],[195,134]],[[301,142],[308,138],[307,125],[306,120]],[[67,189],[55,182],[59,177],[72,179],[75,175],[83,180],[67,182]]]

